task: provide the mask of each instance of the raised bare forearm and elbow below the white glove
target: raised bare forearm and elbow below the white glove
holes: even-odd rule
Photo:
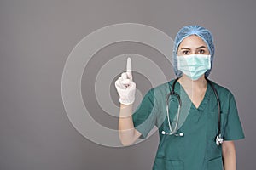
[[[133,125],[132,105],[120,104],[119,112],[119,139],[123,145],[130,145],[141,135]]]

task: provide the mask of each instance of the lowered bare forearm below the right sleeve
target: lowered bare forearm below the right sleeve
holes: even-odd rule
[[[224,141],[222,144],[224,170],[236,170],[236,148],[233,141]]]

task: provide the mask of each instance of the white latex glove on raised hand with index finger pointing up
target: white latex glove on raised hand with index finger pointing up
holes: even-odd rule
[[[126,72],[115,81],[115,88],[119,94],[119,102],[124,105],[131,105],[135,100],[136,83],[132,82],[131,58],[127,59]]]

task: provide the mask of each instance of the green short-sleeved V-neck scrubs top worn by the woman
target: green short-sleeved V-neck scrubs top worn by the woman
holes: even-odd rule
[[[207,91],[198,108],[191,102],[179,82],[175,92],[180,95],[182,107],[177,133],[183,137],[164,135],[170,133],[166,113],[166,95],[171,92],[172,83],[166,82],[151,88],[132,115],[133,123],[145,139],[150,130],[159,129],[160,143],[154,160],[154,170],[221,170],[223,169],[222,146],[217,146],[218,103],[214,91],[207,83]],[[227,88],[212,82],[218,93],[221,106],[221,133],[224,140],[243,139],[244,133],[237,113],[236,101]],[[178,101],[172,95],[168,100],[172,127],[177,117]]]

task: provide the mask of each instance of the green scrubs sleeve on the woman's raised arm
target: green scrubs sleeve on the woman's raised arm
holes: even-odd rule
[[[157,106],[154,96],[154,88],[151,88],[132,115],[135,129],[142,134],[140,139],[146,139],[155,125]]]

